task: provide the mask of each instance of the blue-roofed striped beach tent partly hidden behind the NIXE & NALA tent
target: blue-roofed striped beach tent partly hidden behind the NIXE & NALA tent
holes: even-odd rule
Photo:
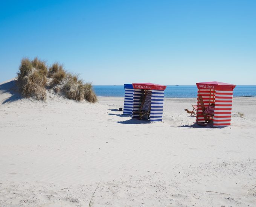
[[[133,114],[133,84],[124,84],[125,88],[125,102],[123,104],[123,114],[132,115]]]

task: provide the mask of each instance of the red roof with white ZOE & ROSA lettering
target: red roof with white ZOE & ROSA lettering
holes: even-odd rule
[[[200,82],[197,83],[198,89],[215,89],[215,90],[221,90],[221,91],[233,91],[236,85],[233,84],[227,84],[222,83],[218,81],[212,81],[212,82]]]

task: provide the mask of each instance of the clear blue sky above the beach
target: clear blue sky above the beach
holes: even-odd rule
[[[1,1],[0,82],[22,57],[94,85],[256,85],[256,1]]]

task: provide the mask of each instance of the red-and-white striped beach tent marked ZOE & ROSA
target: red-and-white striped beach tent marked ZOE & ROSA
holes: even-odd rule
[[[229,126],[235,87],[236,85],[217,81],[197,83],[196,122],[200,124],[208,119],[213,121],[213,127]]]

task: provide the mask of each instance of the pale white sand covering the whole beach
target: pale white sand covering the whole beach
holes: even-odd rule
[[[40,102],[12,84],[0,85],[1,206],[88,206],[99,181],[93,206],[256,206],[256,97],[234,98],[230,127],[193,128],[195,99],[165,99],[148,123],[116,111],[123,98]]]

